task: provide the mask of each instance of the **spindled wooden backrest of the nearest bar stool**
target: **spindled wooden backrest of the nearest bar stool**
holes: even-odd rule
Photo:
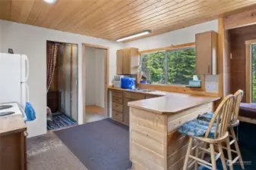
[[[205,137],[208,138],[213,125],[216,125],[214,131],[214,139],[223,137],[228,131],[228,125],[231,120],[232,110],[235,103],[235,96],[229,94],[226,96],[217,107],[216,111],[213,114],[213,118],[210,120],[209,126],[205,133]]]

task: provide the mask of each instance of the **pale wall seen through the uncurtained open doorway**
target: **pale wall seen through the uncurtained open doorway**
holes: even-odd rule
[[[85,48],[86,105],[104,107],[105,50]]]

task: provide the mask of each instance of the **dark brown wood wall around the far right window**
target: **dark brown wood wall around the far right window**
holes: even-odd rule
[[[231,92],[235,93],[238,89],[245,91],[246,99],[246,56],[245,41],[256,39],[256,25],[244,26],[229,30],[230,48],[232,53],[231,60]]]

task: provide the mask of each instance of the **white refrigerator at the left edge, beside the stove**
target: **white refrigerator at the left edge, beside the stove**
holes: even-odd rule
[[[25,109],[29,100],[28,76],[26,55],[0,53],[0,104],[16,102]]]

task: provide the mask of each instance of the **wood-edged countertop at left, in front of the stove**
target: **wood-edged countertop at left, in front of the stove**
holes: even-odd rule
[[[0,117],[0,136],[26,130],[27,126],[21,115]]]

